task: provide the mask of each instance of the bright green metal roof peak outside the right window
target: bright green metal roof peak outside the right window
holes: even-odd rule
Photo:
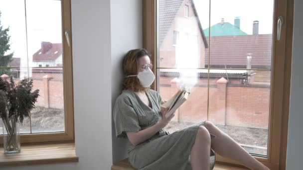
[[[206,37],[209,36],[209,28],[203,30]],[[233,36],[233,35],[247,35],[238,27],[229,22],[221,22],[210,27],[210,36]]]

